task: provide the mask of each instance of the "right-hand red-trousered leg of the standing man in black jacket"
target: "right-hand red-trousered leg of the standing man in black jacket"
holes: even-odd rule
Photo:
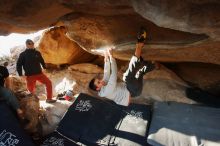
[[[45,75],[45,74],[39,74],[37,80],[46,86],[47,90],[47,99],[51,100],[52,99],[52,83],[50,79]]]

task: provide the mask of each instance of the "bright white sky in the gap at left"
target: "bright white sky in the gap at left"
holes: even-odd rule
[[[11,33],[8,36],[0,36],[0,57],[10,55],[11,48],[24,45],[26,39],[34,39],[42,34],[43,31],[44,30],[40,30],[30,34]]]

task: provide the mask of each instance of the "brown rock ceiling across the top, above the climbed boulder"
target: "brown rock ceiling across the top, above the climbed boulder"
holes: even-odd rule
[[[27,32],[48,27],[68,13],[104,16],[139,13],[145,19],[166,28],[219,35],[217,0],[117,0],[97,1],[7,1],[0,3],[1,32]],[[217,38],[217,37],[216,37]]]

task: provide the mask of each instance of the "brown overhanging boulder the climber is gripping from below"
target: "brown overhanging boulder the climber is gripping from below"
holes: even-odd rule
[[[145,59],[220,64],[220,42],[207,39],[203,34],[161,28],[137,14],[108,17],[75,14],[69,17],[71,21],[65,23],[67,35],[91,53],[102,55],[103,49],[115,46],[114,56],[129,60],[134,53],[136,32],[144,25],[148,29],[148,41],[142,53]],[[134,23],[126,25],[130,21]]]

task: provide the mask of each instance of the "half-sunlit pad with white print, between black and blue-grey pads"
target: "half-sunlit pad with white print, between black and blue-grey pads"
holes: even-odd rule
[[[150,106],[131,104],[123,111],[124,115],[118,125],[114,144],[119,146],[147,146]]]

